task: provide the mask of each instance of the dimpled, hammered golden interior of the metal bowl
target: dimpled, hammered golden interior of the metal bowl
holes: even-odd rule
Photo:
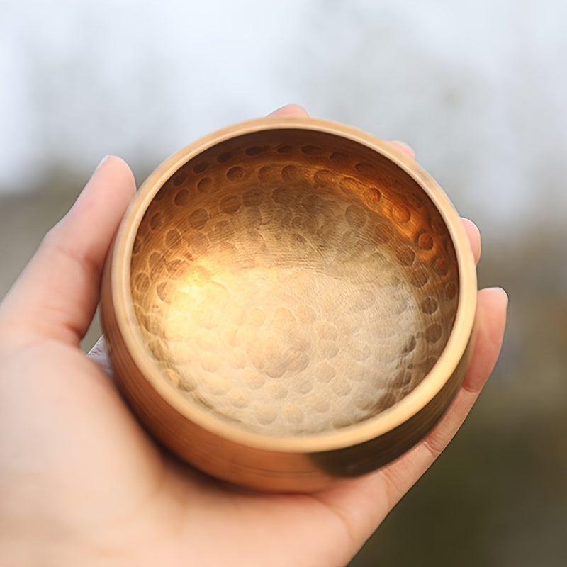
[[[310,130],[240,135],[186,162],[148,206],[130,274],[164,381],[276,436],[354,425],[407,395],[459,294],[451,237],[417,182]]]

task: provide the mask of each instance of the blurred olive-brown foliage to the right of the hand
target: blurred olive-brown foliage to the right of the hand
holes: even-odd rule
[[[561,227],[485,242],[481,286],[510,295],[475,408],[351,563],[560,567],[567,557],[567,262]]]

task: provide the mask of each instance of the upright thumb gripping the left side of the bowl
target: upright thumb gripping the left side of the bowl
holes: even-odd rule
[[[6,296],[0,321],[77,344],[94,315],[104,260],[134,193],[128,165],[103,159]]]

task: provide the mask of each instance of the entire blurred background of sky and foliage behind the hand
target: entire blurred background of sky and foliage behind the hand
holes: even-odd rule
[[[405,140],[510,316],[461,432],[351,565],[564,566],[566,21],[563,0],[0,0],[0,296],[108,153],[140,183],[289,102]]]

